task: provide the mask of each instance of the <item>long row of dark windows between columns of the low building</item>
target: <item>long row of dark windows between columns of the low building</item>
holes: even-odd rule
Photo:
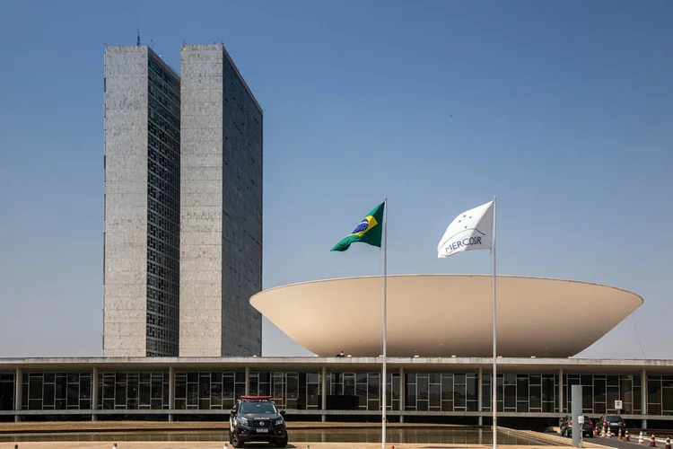
[[[161,343],[157,341],[157,343]],[[170,345],[158,352],[170,350]],[[585,376],[588,376],[585,377]],[[608,380],[609,378],[609,380]],[[328,409],[380,409],[380,373],[328,373]],[[582,385],[584,413],[616,413],[614,401],[623,401],[625,414],[640,414],[639,375],[564,375],[564,397],[572,384]],[[98,389],[102,409],[168,409],[167,372],[101,373]],[[482,378],[482,410],[491,407],[491,376]],[[499,411],[558,412],[558,375],[499,374]],[[565,386],[567,385],[567,386]],[[584,387],[591,390],[584,390]],[[388,409],[399,409],[404,388],[406,410],[476,411],[479,409],[475,373],[389,373]],[[24,373],[23,409],[89,409],[91,373]],[[616,389],[611,396],[611,389]],[[230,409],[245,392],[242,372],[176,372],[176,409]],[[270,395],[282,409],[320,409],[319,373],[250,373],[249,394]],[[13,374],[0,374],[0,407],[13,409]],[[648,414],[673,415],[673,376],[648,376]],[[565,409],[569,409],[566,403]]]

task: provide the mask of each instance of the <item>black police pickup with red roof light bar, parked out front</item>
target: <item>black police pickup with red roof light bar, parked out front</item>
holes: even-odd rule
[[[270,396],[241,396],[229,416],[229,443],[267,442],[275,447],[287,445],[285,412],[275,407]]]

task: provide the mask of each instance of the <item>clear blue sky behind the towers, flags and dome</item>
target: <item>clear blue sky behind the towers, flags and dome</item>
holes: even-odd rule
[[[582,356],[673,357],[668,0],[4,0],[0,357],[101,354],[103,53],[138,19],[178,70],[223,41],[264,108],[265,288],[380,274],[328,250],[384,196],[390,274],[488,274],[436,246],[497,195],[499,273],[644,298]],[[307,354],[268,321],[263,352]]]

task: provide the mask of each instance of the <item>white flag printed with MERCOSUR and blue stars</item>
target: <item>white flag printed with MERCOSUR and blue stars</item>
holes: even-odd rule
[[[437,257],[449,257],[460,251],[490,250],[492,241],[493,201],[457,216],[441,237]]]

